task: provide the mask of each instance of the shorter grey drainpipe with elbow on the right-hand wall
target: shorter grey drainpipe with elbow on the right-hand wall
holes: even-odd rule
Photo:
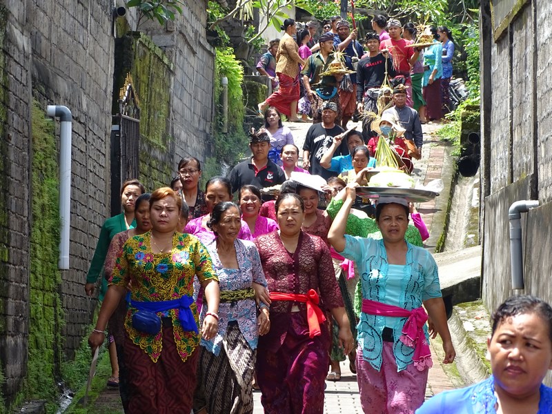
[[[508,210],[510,221],[510,256],[512,266],[512,289],[523,289],[523,249],[522,249],[522,215],[530,208],[539,206],[538,200],[515,201]]]

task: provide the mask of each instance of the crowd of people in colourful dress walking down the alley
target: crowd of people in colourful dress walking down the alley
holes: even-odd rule
[[[265,413],[322,413],[325,381],[340,380],[346,358],[365,413],[455,412],[475,404],[475,394],[484,407],[493,404],[489,395],[500,406],[522,394],[534,406],[549,404],[540,384],[552,367],[552,310],[534,298],[497,311],[491,380],[424,404],[430,337],[440,335],[444,364],[455,359],[437,265],[422,244],[428,230],[405,198],[373,204],[357,195],[378,139],[395,139],[407,173],[420,157],[422,128],[411,105],[427,103],[427,117],[435,114],[433,85],[450,73],[441,51],[449,54],[450,33],[438,28],[443,46],[435,42],[422,58],[393,19],[373,19],[366,54],[338,17],[318,42],[316,29],[307,25],[295,41],[287,19],[282,41],[270,42],[259,72],[278,89],[259,105],[264,128],[250,131],[250,157],[228,177],[202,177],[199,159],[185,157],[170,186],[146,193],[131,179],[121,187],[123,213],[103,224],[85,289],[93,295],[101,279],[88,342],[98,348],[107,332],[108,385],[119,387],[124,411],[252,413],[258,388]],[[413,29],[404,32],[414,39]],[[324,75],[334,50],[351,58],[346,67],[357,64],[354,88],[343,87],[344,75]],[[396,76],[402,82],[368,135],[345,131],[355,110],[378,110],[385,77]],[[418,82],[433,88],[422,93]],[[297,110],[302,89],[308,114]],[[313,118],[302,166],[282,114]],[[520,375],[522,386],[507,362],[529,352],[518,348],[533,339],[546,352],[535,357],[538,373]]]

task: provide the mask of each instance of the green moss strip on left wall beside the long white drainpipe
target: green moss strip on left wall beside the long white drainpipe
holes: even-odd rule
[[[60,377],[61,273],[59,181],[55,124],[32,102],[32,224],[30,230],[30,324],[26,399],[57,399]],[[53,406],[50,406],[53,409]],[[48,410],[50,411],[50,410]]]

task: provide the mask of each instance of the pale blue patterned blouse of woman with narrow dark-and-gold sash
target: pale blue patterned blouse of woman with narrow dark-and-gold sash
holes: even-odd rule
[[[236,258],[239,268],[224,268],[217,253],[217,242],[207,245],[215,272],[219,277],[219,288],[223,290],[240,290],[250,288],[253,282],[266,287],[259,252],[252,242],[235,240]],[[201,308],[200,320],[203,321],[207,312],[206,306]],[[201,346],[219,355],[229,322],[237,322],[251,349],[257,348],[259,331],[257,328],[257,305],[255,299],[242,299],[236,302],[221,302],[219,304],[219,331],[210,341],[201,339]]]

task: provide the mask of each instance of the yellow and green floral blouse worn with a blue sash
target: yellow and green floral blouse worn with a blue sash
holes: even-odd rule
[[[197,237],[175,233],[172,237],[172,249],[168,253],[153,253],[151,233],[131,237],[123,250],[110,277],[110,284],[117,286],[132,284],[131,299],[137,302],[159,302],[179,299],[183,295],[193,295],[193,279],[197,275],[199,282],[207,279],[217,280],[213,272],[213,263],[205,246]],[[190,306],[196,322],[197,308]],[[141,333],[132,327],[132,315],[136,309],[129,306],[125,319],[125,328],[132,342],[146,352],[153,362],[161,355],[161,331],[157,335]],[[178,309],[158,313],[172,319],[177,351],[186,361],[199,344],[199,335],[184,331],[179,321]]]

